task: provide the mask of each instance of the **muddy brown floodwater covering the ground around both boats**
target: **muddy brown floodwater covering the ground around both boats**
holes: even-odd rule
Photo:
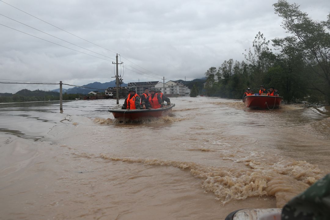
[[[0,219],[224,219],[330,172],[329,107],[171,102],[140,123],[114,119],[116,100],[0,104]]]

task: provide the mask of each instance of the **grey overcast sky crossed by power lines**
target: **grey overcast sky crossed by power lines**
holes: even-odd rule
[[[242,53],[252,46],[258,31],[267,40],[287,35],[280,26],[281,18],[274,14],[275,0],[3,1],[120,54],[124,67],[140,73],[119,67],[125,83],[161,81],[162,76],[166,81],[202,78],[207,69],[220,66],[224,60],[244,60]],[[315,20],[326,20],[330,12],[329,0],[289,2],[299,4],[300,9]],[[111,60],[60,47],[0,25],[0,81],[61,80],[83,85],[115,79],[111,77],[115,75],[112,61],[115,61],[116,53],[74,37],[1,1],[0,14],[99,54],[0,15],[3,25]],[[48,90],[58,88],[58,85],[0,84],[0,93],[15,93],[23,88]]]

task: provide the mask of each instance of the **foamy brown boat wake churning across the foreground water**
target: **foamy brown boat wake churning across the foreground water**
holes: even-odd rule
[[[282,207],[322,176],[317,166],[305,161],[281,161],[272,164],[248,158],[233,158],[235,162],[245,163],[246,166],[240,169],[231,169],[186,161],[118,158],[106,154],[101,154],[101,158],[150,166],[172,166],[181,170],[189,170],[191,175],[202,180],[202,188],[205,193],[213,192],[216,200],[221,201],[222,204],[232,200],[244,200],[248,197],[265,195],[275,196],[277,207]]]

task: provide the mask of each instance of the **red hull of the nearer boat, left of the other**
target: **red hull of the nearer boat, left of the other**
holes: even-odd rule
[[[112,112],[115,118],[123,118],[123,119],[131,119],[136,120],[138,118],[146,118],[146,117],[161,117],[168,115],[171,113],[172,108],[175,104],[171,104],[170,106],[159,108],[159,109],[119,109],[121,107],[117,107],[114,109],[109,109],[109,112]]]

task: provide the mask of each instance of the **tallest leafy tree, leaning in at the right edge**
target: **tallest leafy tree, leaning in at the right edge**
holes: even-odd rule
[[[273,5],[275,14],[283,18],[282,27],[292,36],[276,39],[282,53],[294,53],[303,64],[297,66],[306,77],[308,86],[330,101],[330,14],[326,21],[313,21],[299,10],[297,4],[279,0]]]

